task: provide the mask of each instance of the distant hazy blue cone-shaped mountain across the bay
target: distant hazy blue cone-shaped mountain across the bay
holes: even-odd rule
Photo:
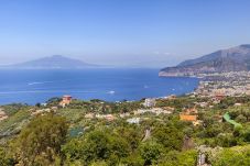
[[[53,55],[25,63],[6,65],[1,68],[23,68],[23,69],[76,69],[76,68],[95,68],[98,65],[87,64],[78,59],[68,58],[62,55]]]

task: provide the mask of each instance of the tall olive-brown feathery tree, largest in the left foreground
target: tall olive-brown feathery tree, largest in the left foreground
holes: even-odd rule
[[[14,140],[12,148],[15,159],[28,166],[57,165],[67,129],[66,120],[62,117],[51,113],[37,117]]]

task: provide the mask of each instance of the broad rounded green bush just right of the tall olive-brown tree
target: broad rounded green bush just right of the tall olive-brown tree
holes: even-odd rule
[[[69,163],[80,161],[83,165],[107,159],[112,165],[127,157],[129,151],[129,144],[122,137],[100,130],[74,139],[63,147]]]

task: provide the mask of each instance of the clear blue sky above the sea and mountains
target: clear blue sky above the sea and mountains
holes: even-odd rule
[[[0,64],[166,67],[250,44],[249,0],[0,0]]]

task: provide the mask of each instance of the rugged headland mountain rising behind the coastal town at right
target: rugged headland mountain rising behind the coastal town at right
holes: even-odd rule
[[[220,49],[195,59],[188,59],[175,67],[160,70],[160,76],[195,76],[207,73],[250,70],[250,44]]]

